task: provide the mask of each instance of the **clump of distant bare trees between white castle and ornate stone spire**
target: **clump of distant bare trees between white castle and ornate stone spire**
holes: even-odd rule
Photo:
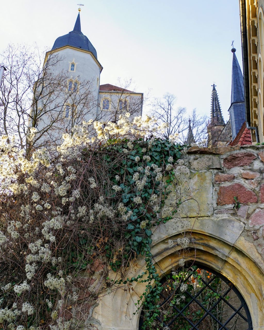
[[[167,93],[162,99],[155,99],[152,104],[152,116],[157,118],[157,123],[168,123],[168,127],[163,134],[164,139],[168,139],[170,135],[179,134],[179,141],[185,143],[189,131],[189,119],[195,142],[207,139],[206,116],[197,114],[193,109],[191,116],[186,113],[186,108],[176,107],[176,97]]]

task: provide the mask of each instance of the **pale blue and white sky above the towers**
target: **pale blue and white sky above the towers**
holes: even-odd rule
[[[232,40],[242,69],[239,0],[79,1],[82,32],[103,66],[100,84],[132,79],[129,89],[148,94],[149,102],[169,92],[176,107],[210,116],[215,83],[228,120]],[[3,2],[0,53],[10,43],[51,49],[57,37],[73,30],[77,2]]]

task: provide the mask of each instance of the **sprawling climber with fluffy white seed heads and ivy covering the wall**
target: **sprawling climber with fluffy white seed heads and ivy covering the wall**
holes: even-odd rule
[[[100,295],[133,281],[146,282],[140,308],[158,280],[151,235],[154,226],[177,217],[177,201],[168,208],[165,200],[176,173],[188,171],[179,160],[185,149],[175,136],[153,137],[154,119],[129,116],[83,122],[62,135],[60,146],[31,154],[17,148],[14,137],[1,137],[3,329],[76,327],[80,304],[92,308]],[[30,130],[28,140],[35,134]],[[146,258],[145,272],[126,278],[138,255]],[[100,279],[92,286],[98,268]],[[83,288],[83,278],[91,285]]]

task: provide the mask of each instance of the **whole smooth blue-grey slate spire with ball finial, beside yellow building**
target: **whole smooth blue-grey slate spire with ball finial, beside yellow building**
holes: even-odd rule
[[[233,53],[232,62],[232,92],[231,92],[231,105],[229,108],[232,140],[235,139],[242,125],[246,121],[245,111],[245,95],[244,95],[244,79],[235,54],[236,49],[231,49]]]

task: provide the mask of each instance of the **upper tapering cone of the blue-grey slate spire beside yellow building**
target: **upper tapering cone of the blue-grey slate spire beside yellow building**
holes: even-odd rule
[[[235,102],[244,102],[244,78],[240,69],[240,65],[235,54],[236,49],[231,49],[233,53],[232,62],[232,92],[231,92],[231,104]]]

